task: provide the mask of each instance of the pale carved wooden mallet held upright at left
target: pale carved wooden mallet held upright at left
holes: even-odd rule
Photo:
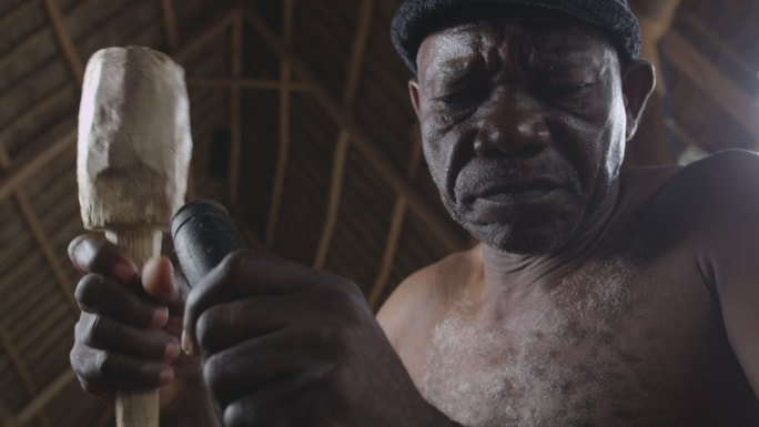
[[[184,202],[192,153],[184,71],[148,48],[90,58],[79,110],[77,180],[87,230],[139,268],[160,254],[162,233]],[[158,427],[158,390],[122,390],[119,427]]]

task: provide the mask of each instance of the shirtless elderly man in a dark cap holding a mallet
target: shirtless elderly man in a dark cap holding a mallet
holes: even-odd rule
[[[759,161],[620,173],[654,87],[626,2],[408,0],[393,37],[432,176],[482,244],[375,319],[283,260],[235,253],[188,296],[165,258],[140,279],[79,237],[83,387],[160,386],[182,426],[759,425]]]

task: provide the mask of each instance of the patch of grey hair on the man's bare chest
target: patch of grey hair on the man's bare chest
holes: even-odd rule
[[[472,322],[465,295],[433,332],[422,394],[467,427],[661,425],[640,397],[642,358],[621,337],[645,299],[629,288],[634,271],[621,258],[586,264],[545,309],[503,325]]]

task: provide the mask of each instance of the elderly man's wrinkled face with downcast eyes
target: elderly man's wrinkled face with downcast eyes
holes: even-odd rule
[[[616,50],[546,13],[423,42],[412,98],[452,216],[499,251],[555,251],[593,223],[628,133]]]

